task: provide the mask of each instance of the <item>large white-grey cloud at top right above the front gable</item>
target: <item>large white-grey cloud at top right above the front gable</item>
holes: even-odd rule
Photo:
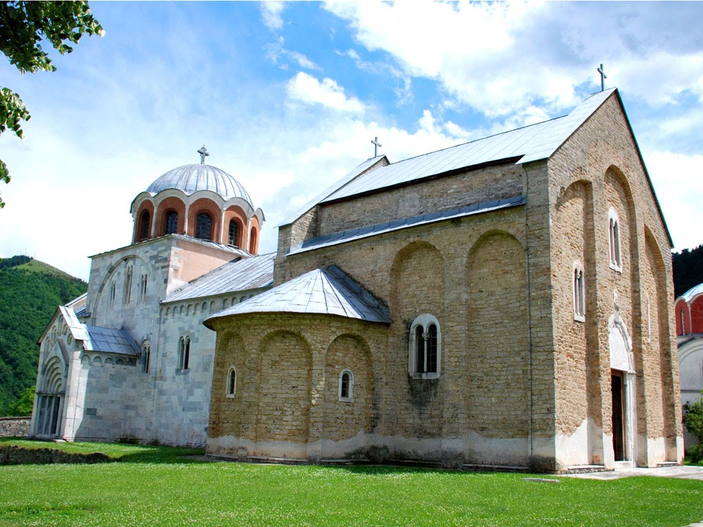
[[[607,85],[671,103],[703,100],[702,4],[559,2],[332,2],[368,50],[385,51],[413,77],[436,79],[446,95],[487,117],[529,105],[571,108]],[[646,7],[645,7],[646,6]]]

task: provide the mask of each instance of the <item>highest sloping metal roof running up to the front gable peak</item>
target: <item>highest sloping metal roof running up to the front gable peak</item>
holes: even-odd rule
[[[612,88],[594,93],[564,117],[378,167],[323,198],[320,203],[484,163],[515,157],[520,158],[516,164],[546,159],[598,110],[614,91],[616,89]]]

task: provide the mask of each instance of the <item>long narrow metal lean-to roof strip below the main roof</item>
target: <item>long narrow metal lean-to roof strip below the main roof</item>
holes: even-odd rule
[[[361,240],[362,238],[370,238],[371,236],[378,236],[380,234],[392,232],[393,230],[418,227],[420,225],[434,223],[436,221],[461,218],[463,216],[472,216],[473,214],[483,214],[484,212],[491,212],[499,209],[508,209],[510,207],[524,205],[526,202],[527,198],[524,196],[510,197],[504,200],[474,203],[461,207],[460,209],[430,212],[427,214],[421,214],[420,216],[413,216],[412,218],[386,221],[385,223],[376,223],[375,225],[369,225],[366,227],[342,230],[339,233],[310,238],[301,245],[291,247],[288,254],[297,254],[299,252],[320,249],[321,247],[329,247],[330,245],[338,245],[340,243],[352,242],[353,240]]]

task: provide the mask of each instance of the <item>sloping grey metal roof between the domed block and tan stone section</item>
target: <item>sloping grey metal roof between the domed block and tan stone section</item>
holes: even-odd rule
[[[173,302],[200,297],[212,297],[273,285],[273,261],[276,253],[260,254],[251,258],[225,263],[224,266],[188,282],[178,291],[169,294],[163,302]]]

